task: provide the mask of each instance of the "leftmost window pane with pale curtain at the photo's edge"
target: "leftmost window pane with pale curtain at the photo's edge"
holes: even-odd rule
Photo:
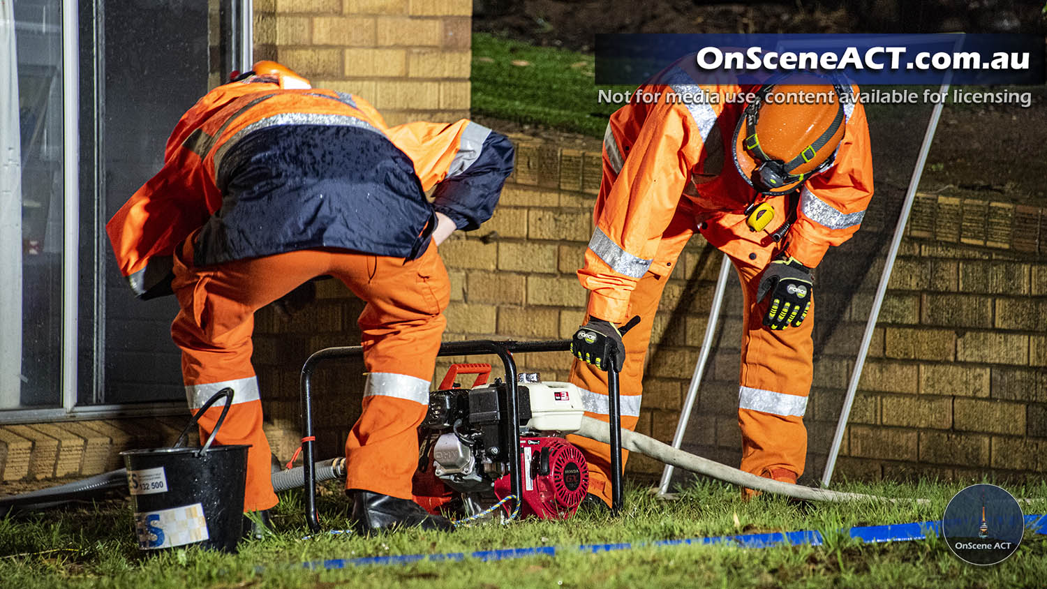
[[[0,0],[0,409],[61,405],[62,3]]]

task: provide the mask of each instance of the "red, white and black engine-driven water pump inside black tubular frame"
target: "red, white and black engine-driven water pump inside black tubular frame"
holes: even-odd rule
[[[429,410],[419,427],[414,495],[431,513],[475,515],[511,494],[508,387],[500,379],[487,385],[490,370],[490,364],[454,364],[440,389],[429,394]],[[478,375],[472,388],[454,382],[461,373]],[[571,383],[540,382],[535,373],[521,373],[517,395],[519,515],[569,518],[588,491],[585,457],[562,437],[581,426],[581,393]],[[514,505],[507,501],[506,512]]]

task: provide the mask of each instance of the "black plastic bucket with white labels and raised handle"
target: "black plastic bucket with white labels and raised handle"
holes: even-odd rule
[[[182,448],[203,412],[219,399],[225,407],[202,448]],[[247,449],[215,446],[215,436],[232,405],[224,388],[204,403],[173,448],[120,452],[128,471],[138,548],[155,550],[199,544],[237,551],[243,534]]]

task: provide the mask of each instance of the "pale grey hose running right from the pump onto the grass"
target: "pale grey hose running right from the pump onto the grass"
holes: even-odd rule
[[[607,431],[607,424],[594,420],[593,417],[582,417],[582,427],[575,432],[575,434],[588,437],[597,441],[602,441],[604,444],[609,444],[610,439],[609,432]],[[662,444],[652,437],[625,429],[622,430],[622,448],[628,450],[629,452],[639,452],[645,456],[650,456],[655,460],[665,462],[666,465],[672,465],[673,467],[684,469],[692,473],[710,476],[739,486],[748,486],[749,489],[773,493],[775,495],[784,495],[786,497],[794,497],[805,501],[829,501],[837,503],[847,501],[915,501],[918,504],[930,502],[927,499],[889,499],[887,497],[878,497],[876,495],[841,493],[839,491],[829,491],[826,489],[811,489],[809,486],[802,486],[799,484],[763,478],[744,471],[739,471],[738,469],[733,469],[714,460],[710,460],[709,458],[703,458],[701,456],[689,454],[683,450],[677,450],[668,444]]]

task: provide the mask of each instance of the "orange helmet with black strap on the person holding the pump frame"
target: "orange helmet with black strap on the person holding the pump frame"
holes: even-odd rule
[[[760,87],[734,130],[734,165],[765,195],[790,192],[832,165],[851,94],[823,78],[783,80]]]

